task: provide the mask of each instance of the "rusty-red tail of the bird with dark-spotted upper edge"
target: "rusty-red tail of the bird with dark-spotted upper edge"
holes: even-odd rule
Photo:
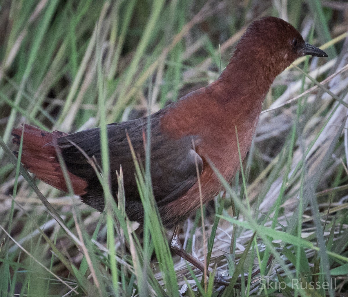
[[[13,143],[19,147],[23,127],[12,130]],[[55,139],[67,134],[60,131],[46,132],[39,128],[25,125],[23,131],[23,148],[21,162],[24,167],[37,175],[49,185],[68,192],[63,171],[57,158]],[[15,151],[18,155],[18,152]],[[76,195],[86,194],[87,181],[68,172],[70,182]]]

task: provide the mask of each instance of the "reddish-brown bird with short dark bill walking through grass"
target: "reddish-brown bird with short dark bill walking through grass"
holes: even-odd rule
[[[143,136],[149,120],[153,196],[163,225],[174,226],[169,247],[204,271],[204,264],[186,252],[179,241],[183,222],[200,207],[200,199],[207,203],[222,190],[214,166],[224,179],[234,177],[240,166],[239,152],[244,159],[251,147],[272,82],[297,58],[306,55],[327,57],[323,50],[305,42],[290,23],[277,17],[263,17],[248,26],[217,80],[149,118],[107,125],[111,190],[117,200],[117,173],[122,166],[125,212],[129,220],[141,224],[144,209],[128,139],[140,162],[144,162]],[[17,146],[22,130],[21,162],[26,169],[38,179],[68,192],[57,157],[59,149],[74,194],[102,212],[103,188],[90,164],[93,158],[101,166],[100,128],[66,134],[24,125],[12,131]],[[215,274],[215,281],[229,283],[219,273]]]

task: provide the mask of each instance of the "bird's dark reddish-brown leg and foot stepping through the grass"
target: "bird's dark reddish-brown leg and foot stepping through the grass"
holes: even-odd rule
[[[175,225],[173,236],[169,246],[173,253],[185,259],[186,261],[188,261],[189,263],[191,263],[193,266],[197,267],[201,272],[204,273],[204,263],[200,261],[199,259],[197,259],[196,257],[193,257],[191,254],[185,251],[184,248],[182,247],[182,244],[179,240],[179,235],[180,235],[182,225],[183,225],[183,222],[180,222]],[[211,271],[208,271],[209,277],[211,276],[211,273],[212,273]],[[224,277],[218,272],[215,272],[214,281],[216,283],[223,284],[224,286],[228,286],[229,284],[229,281],[224,280]]]

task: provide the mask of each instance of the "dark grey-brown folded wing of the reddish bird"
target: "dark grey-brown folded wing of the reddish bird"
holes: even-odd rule
[[[159,115],[151,117],[151,179],[155,200],[160,206],[176,200],[195,184],[197,181],[196,166],[201,172],[203,161],[193,148],[199,141],[197,136],[188,135],[181,139],[171,139],[169,135],[160,131],[159,118]],[[140,201],[127,134],[139,161],[144,165],[143,138],[146,124],[147,118],[142,118],[107,126],[112,191],[114,195],[117,193],[116,171],[119,171],[122,166],[127,201]],[[102,196],[103,190],[96,178],[95,171],[84,155],[86,154],[99,166],[101,165],[99,128],[66,135],[58,138],[57,142],[69,172],[88,181],[86,195],[90,198]],[[84,151],[84,154],[81,153],[81,150]],[[85,202],[90,204],[86,200]]]

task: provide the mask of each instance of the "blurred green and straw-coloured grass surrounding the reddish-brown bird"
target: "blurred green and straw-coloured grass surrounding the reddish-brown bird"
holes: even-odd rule
[[[100,214],[10,162],[10,132],[23,122],[75,132],[145,116],[214,81],[247,25],[267,15],[329,58],[294,63],[315,81],[296,67],[276,79],[226,200],[204,207],[204,228],[200,210],[184,227],[185,249],[211,256],[210,267],[234,276],[229,287],[172,260],[172,230],[154,214],[141,171],[139,236],[122,205],[108,200]],[[1,296],[345,296],[348,124],[338,101],[348,102],[347,25],[343,0],[1,1]],[[331,279],[329,289],[310,287]]]

